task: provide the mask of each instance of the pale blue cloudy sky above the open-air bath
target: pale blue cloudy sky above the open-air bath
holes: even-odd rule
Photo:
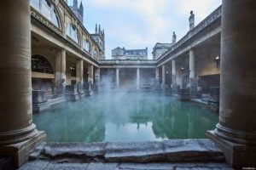
[[[156,42],[172,42],[172,31],[176,31],[177,40],[189,31],[190,10],[198,24],[221,4],[221,0],[82,1],[86,29],[94,33],[96,23],[105,29],[107,59],[116,47],[148,47],[148,59],[152,59]],[[73,4],[73,0],[68,3]]]

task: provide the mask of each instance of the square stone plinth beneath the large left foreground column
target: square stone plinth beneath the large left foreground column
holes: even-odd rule
[[[21,167],[28,161],[29,153],[41,142],[46,141],[46,133],[37,131],[32,139],[27,139],[17,144],[0,145],[1,156],[11,156],[14,161],[15,168]]]

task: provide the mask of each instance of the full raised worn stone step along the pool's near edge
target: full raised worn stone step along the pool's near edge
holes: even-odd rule
[[[76,162],[223,162],[224,152],[209,139],[172,139],[128,143],[44,143],[30,160]]]

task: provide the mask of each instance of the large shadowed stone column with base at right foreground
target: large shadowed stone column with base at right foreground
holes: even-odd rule
[[[256,167],[256,1],[222,8],[219,122],[207,135],[233,167]]]

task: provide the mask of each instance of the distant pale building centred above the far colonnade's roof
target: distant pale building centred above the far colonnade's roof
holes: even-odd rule
[[[125,49],[114,48],[112,59],[148,59],[148,48],[145,49]]]

